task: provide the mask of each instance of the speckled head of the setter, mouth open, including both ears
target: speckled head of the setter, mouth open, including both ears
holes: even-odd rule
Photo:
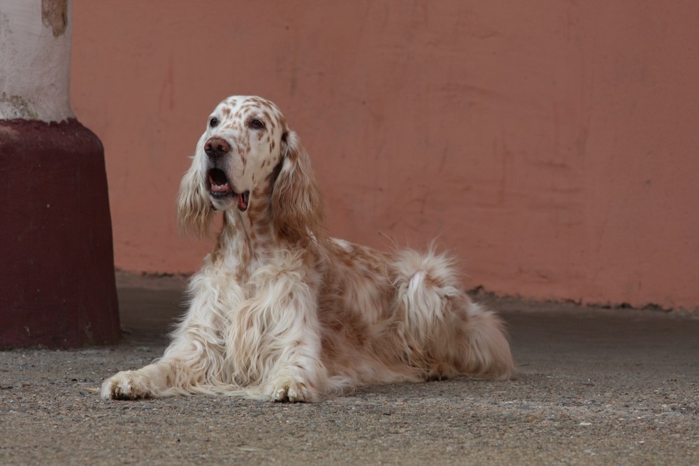
[[[206,235],[215,210],[246,214],[251,205],[270,206],[282,235],[307,237],[322,223],[322,198],[308,154],[277,105],[231,96],[209,116],[182,178],[180,231]]]

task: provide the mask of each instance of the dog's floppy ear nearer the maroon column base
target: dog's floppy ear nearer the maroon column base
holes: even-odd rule
[[[177,196],[177,224],[181,235],[206,238],[214,210],[203,180],[203,173],[198,168],[196,156],[192,166],[180,182]]]

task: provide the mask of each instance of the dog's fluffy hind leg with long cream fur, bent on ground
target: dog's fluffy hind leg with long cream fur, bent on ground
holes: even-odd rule
[[[426,378],[512,375],[503,321],[466,296],[446,256],[406,251],[396,270],[408,354],[413,365],[424,368]]]

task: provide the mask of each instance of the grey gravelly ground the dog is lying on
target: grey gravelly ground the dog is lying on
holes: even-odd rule
[[[180,279],[117,284],[117,346],[0,352],[1,465],[699,465],[696,314],[489,300],[510,324],[513,381],[362,388],[312,405],[103,402],[101,381],[159,356],[181,312]]]

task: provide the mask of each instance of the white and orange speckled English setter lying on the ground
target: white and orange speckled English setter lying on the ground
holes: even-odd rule
[[[503,323],[433,249],[329,238],[308,154],[277,106],[219,103],[178,194],[182,233],[222,230],[165,354],[107,379],[104,399],[186,393],[313,402],[356,386],[507,379]]]

